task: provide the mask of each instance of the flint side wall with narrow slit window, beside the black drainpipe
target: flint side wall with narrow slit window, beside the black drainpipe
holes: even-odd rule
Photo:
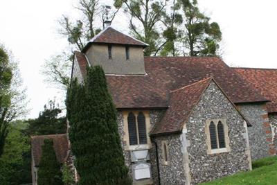
[[[180,134],[154,137],[154,141],[157,142],[158,146],[159,170],[162,185],[185,184],[186,182],[180,137]],[[162,141],[166,141],[168,145],[168,164],[164,164],[163,161]]]

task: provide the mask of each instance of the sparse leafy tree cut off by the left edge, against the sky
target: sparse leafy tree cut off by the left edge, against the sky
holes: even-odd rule
[[[8,126],[26,113],[25,89],[12,54],[0,44],[0,157],[3,154]]]

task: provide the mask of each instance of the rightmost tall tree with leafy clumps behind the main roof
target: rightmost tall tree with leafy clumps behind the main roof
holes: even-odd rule
[[[200,12],[197,0],[179,0],[184,12],[184,44],[190,56],[217,55],[222,39],[220,26]],[[187,53],[184,53],[187,54]]]

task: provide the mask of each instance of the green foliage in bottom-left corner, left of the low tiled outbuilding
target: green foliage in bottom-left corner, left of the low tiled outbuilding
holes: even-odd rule
[[[30,141],[22,133],[24,121],[12,122],[6,139],[4,153],[0,158],[0,182],[17,185],[32,182],[30,169]]]

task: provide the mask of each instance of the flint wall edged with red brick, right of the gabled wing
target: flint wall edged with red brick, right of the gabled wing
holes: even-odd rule
[[[243,104],[238,107],[252,125],[248,127],[252,160],[268,157],[271,155],[272,135],[265,103]]]

